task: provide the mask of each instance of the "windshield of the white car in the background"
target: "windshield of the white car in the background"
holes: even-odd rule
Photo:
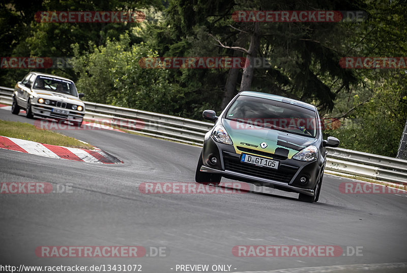
[[[72,81],[48,76],[37,76],[33,89],[48,90],[75,97],[78,96],[75,85]]]

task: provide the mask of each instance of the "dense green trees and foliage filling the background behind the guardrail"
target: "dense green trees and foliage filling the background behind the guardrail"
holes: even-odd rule
[[[140,9],[146,14],[142,23],[34,20],[41,10]],[[363,21],[255,26],[234,21],[231,14],[238,10],[363,10],[368,16]],[[34,0],[31,5],[7,0],[0,4],[0,14],[4,56],[74,57],[73,69],[43,72],[72,78],[86,100],[194,119],[207,108],[221,111],[238,93],[243,70],[145,69],[139,60],[246,57],[251,38],[258,35],[254,53],[270,66],[254,69],[251,90],[300,99],[316,105],[324,117],[340,118],[342,126],[324,134],[338,137],[343,148],[396,154],[407,117],[405,72],[344,69],[339,60],[407,56],[405,0]],[[28,71],[0,69],[0,81],[13,86]]]

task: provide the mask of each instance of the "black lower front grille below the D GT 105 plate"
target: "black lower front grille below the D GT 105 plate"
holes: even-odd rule
[[[271,179],[288,183],[296,174],[297,167],[279,166],[278,170],[267,167],[255,166],[249,163],[242,163],[239,158],[223,157],[226,171],[251,175],[260,178]]]

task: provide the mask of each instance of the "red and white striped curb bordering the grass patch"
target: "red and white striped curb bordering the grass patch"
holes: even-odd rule
[[[40,156],[70,159],[89,163],[104,163],[104,164],[123,163],[123,161],[120,160],[119,158],[114,157],[98,148],[94,148],[94,150],[86,150],[49,144],[41,144],[34,141],[27,141],[2,136],[0,136],[0,148]]]

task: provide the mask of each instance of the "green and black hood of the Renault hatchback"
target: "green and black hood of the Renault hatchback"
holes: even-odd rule
[[[292,158],[293,155],[305,147],[312,145],[317,140],[227,119],[222,119],[222,124],[229,134],[238,154],[242,153],[238,147],[243,147],[276,154],[280,158],[284,156]],[[267,147],[262,148],[261,143],[266,143]]]

